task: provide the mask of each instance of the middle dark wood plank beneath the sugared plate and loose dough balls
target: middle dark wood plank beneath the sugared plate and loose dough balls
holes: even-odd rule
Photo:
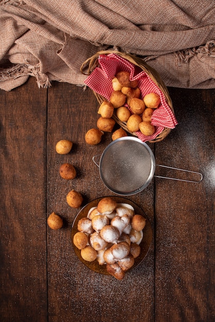
[[[85,143],[85,133],[96,127],[98,102],[94,94],[75,85],[53,83],[48,95],[47,209],[60,214],[64,228],[48,230],[49,321],[140,321],[154,320],[153,243],[144,262],[123,281],[89,270],[75,255],[71,244],[71,225],[79,209],[66,203],[66,194],[75,189],[84,196],[83,205],[104,195],[104,187],[92,157],[102,153],[111,142],[105,133],[98,146]],[[59,155],[55,145],[60,139],[74,142],[71,152]],[[62,163],[72,163],[77,178],[66,182],[59,176]],[[131,196],[145,210],[153,225],[153,182],[143,193]]]

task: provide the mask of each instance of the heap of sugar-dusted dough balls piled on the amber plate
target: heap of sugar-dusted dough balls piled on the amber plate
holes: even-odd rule
[[[135,214],[131,205],[104,197],[78,221],[73,242],[84,260],[106,264],[106,270],[122,280],[140,255],[145,225],[146,219]]]

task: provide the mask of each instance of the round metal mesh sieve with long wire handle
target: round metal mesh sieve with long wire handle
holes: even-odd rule
[[[97,157],[100,157],[99,164]],[[99,167],[100,177],[104,185],[112,192],[120,195],[131,195],[145,189],[152,181],[153,176],[199,183],[202,174],[199,172],[155,165],[155,158],[149,146],[135,137],[121,137],[112,141],[101,155],[93,157]],[[200,176],[199,181],[181,180],[173,177],[154,175],[155,166],[165,167],[195,173]]]

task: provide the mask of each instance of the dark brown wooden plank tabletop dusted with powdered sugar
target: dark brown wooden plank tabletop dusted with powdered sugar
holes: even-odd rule
[[[83,205],[114,195],[92,161],[98,146],[84,136],[96,126],[98,102],[91,90],[34,78],[0,92],[1,312],[3,322],[212,322],[214,321],[214,90],[169,88],[178,125],[149,144],[156,164],[203,174],[201,183],[153,178],[130,200],[147,214],[153,240],[146,259],[122,281],[89,270],[75,255],[71,225],[81,209],[66,203],[71,189]],[[56,153],[60,139],[74,142]],[[77,178],[65,181],[61,164]],[[64,220],[51,230],[55,211]]]

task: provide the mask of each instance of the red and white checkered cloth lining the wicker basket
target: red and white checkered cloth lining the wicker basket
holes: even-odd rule
[[[126,70],[130,73],[130,80],[138,80],[138,87],[140,88],[140,98],[144,98],[146,94],[154,92],[160,96],[160,105],[152,114],[152,124],[155,126],[155,133],[151,136],[146,136],[140,131],[136,132],[137,136],[142,141],[153,140],[164,128],[174,129],[177,124],[174,113],[166,102],[164,93],[151,80],[148,74],[140,67],[132,64],[127,59],[124,59],[116,53],[109,55],[100,55],[98,58],[99,67],[93,70],[89,75],[85,84],[94,92],[100,94],[107,100],[110,100],[113,92],[112,79],[118,71]],[[127,105],[128,106],[128,105]]]

